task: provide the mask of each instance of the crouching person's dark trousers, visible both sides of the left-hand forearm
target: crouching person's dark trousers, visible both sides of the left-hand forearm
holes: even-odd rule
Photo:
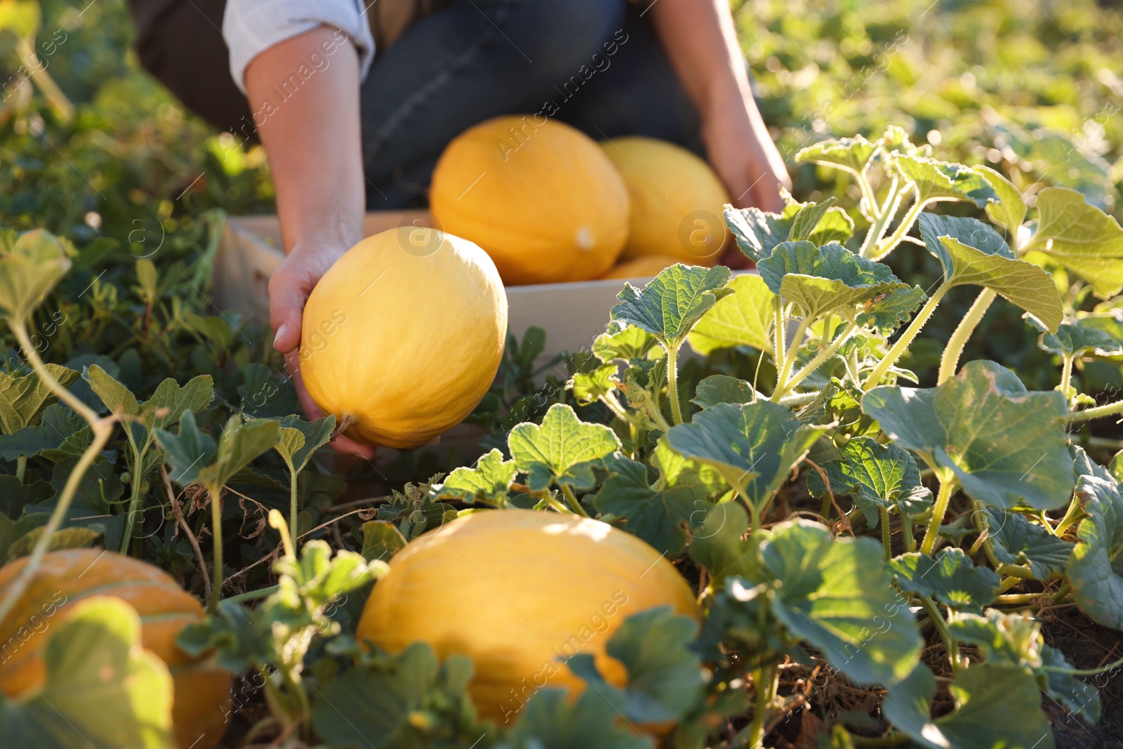
[[[249,108],[214,24],[225,0],[129,4],[145,67],[189,109],[245,135]],[[192,43],[175,43],[184,38]],[[451,0],[376,51],[360,111],[371,210],[423,207],[448,141],[500,115],[541,112],[595,140],[646,135],[702,149],[697,111],[649,19],[626,0]]]

